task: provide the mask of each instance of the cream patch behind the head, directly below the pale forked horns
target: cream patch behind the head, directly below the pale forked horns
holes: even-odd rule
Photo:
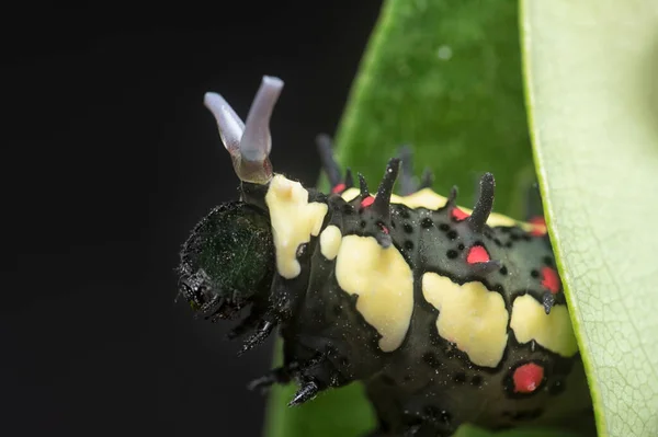
[[[309,242],[310,235],[320,233],[327,204],[309,204],[308,192],[302,184],[281,174],[272,177],[265,204],[272,221],[276,269],[284,278],[292,279],[302,271],[297,261],[297,248]]]

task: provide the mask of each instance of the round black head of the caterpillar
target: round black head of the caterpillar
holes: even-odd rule
[[[228,319],[268,298],[274,265],[266,214],[242,202],[223,204],[183,244],[179,291],[200,315]]]

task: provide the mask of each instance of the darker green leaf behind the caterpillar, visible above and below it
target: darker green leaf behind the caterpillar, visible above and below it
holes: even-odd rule
[[[497,176],[496,210],[523,218],[534,181],[514,0],[387,0],[368,44],[338,136],[339,160],[377,184],[400,145],[429,166],[434,187],[457,184],[469,205],[478,177]],[[288,409],[294,387],[275,388],[268,437],[355,437],[374,416],[362,387],[330,390]],[[473,427],[458,437],[494,434]],[[496,436],[565,436],[519,430]]]

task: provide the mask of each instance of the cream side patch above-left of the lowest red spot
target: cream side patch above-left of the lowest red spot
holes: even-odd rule
[[[458,285],[431,272],[422,275],[422,294],[439,310],[439,335],[456,343],[473,364],[498,366],[508,341],[502,296],[481,283]]]

